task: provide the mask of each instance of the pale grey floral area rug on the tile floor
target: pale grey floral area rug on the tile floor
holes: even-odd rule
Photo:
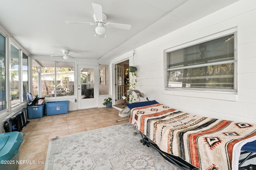
[[[178,170],[130,123],[50,140],[45,170]]]

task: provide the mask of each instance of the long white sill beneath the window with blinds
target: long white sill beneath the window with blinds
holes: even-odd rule
[[[164,94],[174,96],[186,96],[194,98],[207,98],[216,100],[237,101],[235,92],[213,92],[213,91],[192,91],[192,90],[164,90]]]

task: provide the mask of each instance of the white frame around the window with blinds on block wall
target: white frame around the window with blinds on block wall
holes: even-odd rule
[[[219,63],[234,63],[234,88],[233,89],[213,89],[213,88],[182,88],[182,87],[168,87],[168,71],[172,70],[172,68],[168,68],[168,53],[172,52],[172,51],[176,51],[179,49],[184,49],[186,47],[191,47],[194,45],[198,45],[200,43],[204,43],[207,41],[211,41],[214,39],[218,39],[220,37],[224,37],[227,35],[231,35],[234,34],[234,60],[228,60],[228,61],[224,61],[224,62],[215,62],[216,64]],[[196,65],[199,66],[200,64]],[[199,39],[194,39],[192,41],[171,47],[169,49],[164,50],[164,89],[165,89],[165,94],[172,94],[172,92],[167,92],[168,90],[173,90],[173,91],[179,91],[182,90],[184,92],[186,91],[190,91],[190,92],[217,92],[217,93],[229,93],[229,94],[237,94],[237,30],[235,29],[230,29],[227,31],[223,31],[222,33],[216,33],[216,34],[212,34],[212,35],[208,35],[206,37],[201,37]],[[174,69],[174,68],[173,68]],[[175,68],[177,69],[177,68]],[[184,95],[184,94],[183,94]],[[190,96],[190,95],[188,95]],[[234,99],[236,100],[236,99]]]

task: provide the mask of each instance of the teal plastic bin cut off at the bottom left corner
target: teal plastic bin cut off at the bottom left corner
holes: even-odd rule
[[[24,134],[8,132],[0,134],[0,169],[17,170],[19,166],[19,148]]]

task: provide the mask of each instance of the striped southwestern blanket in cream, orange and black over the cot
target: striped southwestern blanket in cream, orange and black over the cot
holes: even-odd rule
[[[192,115],[163,104],[133,108],[130,123],[162,151],[202,170],[237,170],[241,147],[256,140],[256,124]]]

